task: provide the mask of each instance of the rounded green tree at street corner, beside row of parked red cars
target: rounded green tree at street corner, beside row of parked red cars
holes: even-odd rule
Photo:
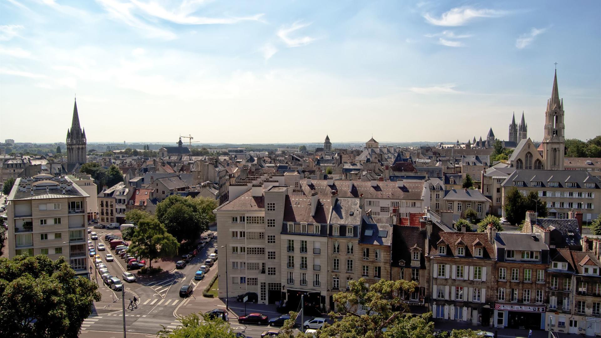
[[[148,266],[152,267],[153,259],[175,256],[179,246],[177,239],[167,232],[163,224],[154,218],[143,218],[133,231],[129,251],[147,258]]]

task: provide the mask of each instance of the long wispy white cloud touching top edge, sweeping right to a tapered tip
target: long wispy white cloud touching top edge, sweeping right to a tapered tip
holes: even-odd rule
[[[156,1],[132,0],[132,3],[144,11],[144,13],[158,17],[159,19],[179,23],[180,25],[231,25],[245,20],[260,21],[263,16],[263,14],[242,17],[203,17],[192,15],[192,13],[203,5],[203,2],[185,1],[177,7],[169,9]]]

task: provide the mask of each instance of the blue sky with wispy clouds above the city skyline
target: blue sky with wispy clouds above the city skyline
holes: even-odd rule
[[[0,0],[0,140],[601,134],[600,1]],[[184,141],[187,141],[186,139]]]

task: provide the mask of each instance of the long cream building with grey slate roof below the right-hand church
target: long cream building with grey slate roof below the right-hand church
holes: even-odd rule
[[[582,212],[585,222],[599,216],[601,182],[588,171],[516,170],[501,185],[503,206],[509,189],[515,186],[524,195],[537,192],[547,203],[549,218],[567,218],[572,209]]]

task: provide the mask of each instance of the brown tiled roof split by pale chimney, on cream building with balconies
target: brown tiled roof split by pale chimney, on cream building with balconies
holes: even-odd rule
[[[284,203],[284,222],[328,223],[328,214],[332,206],[330,198],[322,197],[317,200],[315,216],[311,216],[310,196],[286,195]]]

